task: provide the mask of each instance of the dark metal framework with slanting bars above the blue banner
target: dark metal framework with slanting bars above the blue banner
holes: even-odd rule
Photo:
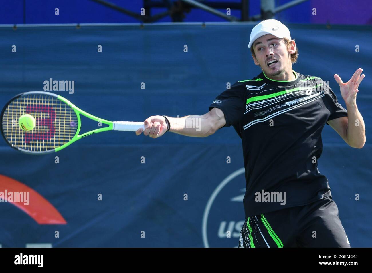
[[[261,0],[261,13],[253,16],[249,16],[249,0],[240,0],[237,2],[215,2],[206,0],[143,0],[143,7],[145,14],[132,12],[128,9],[120,7],[114,3],[106,0],[91,0],[93,2],[102,4],[103,6],[117,10],[118,12],[125,13],[143,23],[156,22],[157,20],[170,16],[173,22],[183,22],[186,17],[185,13],[189,13],[191,9],[202,9],[207,12],[213,13],[219,17],[226,19],[231,22],[244,22],[244,21],[259,21],[271,19],[276,13],[293,7],[308,0],[292,0],[282,6],[275,7],[275,0]],[[153,8],[166,8],[165,12],[161,12],[155,15],[151,15],[151,9]],[[218,9],[227,10],[227,8],[240,10],[240,18],[232,15],[228,15],[226,12],[221,12]]]

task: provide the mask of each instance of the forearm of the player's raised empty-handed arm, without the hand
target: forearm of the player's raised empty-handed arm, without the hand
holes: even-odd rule
[[[356,104],[346,105],[347,108],[347,129],[346,136],[349,145],[355,148],[362,148],[366,142],[366,130],[364,120]]]

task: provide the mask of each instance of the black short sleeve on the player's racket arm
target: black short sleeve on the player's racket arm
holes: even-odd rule
[[[215,98],[209,106],[209,111],[215,107],[221,109],[226,120],[224,127],[236,125],[244,115],[244,98],[244,85],[241,82],[235,82],[230,89],[225,90]]]

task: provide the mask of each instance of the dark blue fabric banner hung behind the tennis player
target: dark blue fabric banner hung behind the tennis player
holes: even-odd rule
[[[248,49],[252,27],[249,23],[3,26],[0,105],[20,92],[43,90],[44,81],[52,78],[74,81],[73,94],[54,92],[108,120],[204,114],[227,82],[260,73]],[[328,177],[351,246],[371,247],[372,71],[366,57],[371,27],[288,27],[299,47],[294,70],[329,80],[342,105],[333,74],[345,82],[359,67],[366,74],[357,97],[366,123],[365,146],[353,149],[325,126],[318,168]],[[99,45],[102,52],[97,51]],[[228,156],[231,163],[226,162]],[[206,138],[168,132],[151,139],[134,132],[105,132],[46,156],[21,154],[1,140],[0,174],[44,196],[67,224],[38,224],[13,204],[2,202],[0,244],[234,247],[244,221],[243,167],[241,140],[232,127]],[[102,201],[97,200],[99,194]],[[227,230],[232,231],[231,238],[226,237]]]

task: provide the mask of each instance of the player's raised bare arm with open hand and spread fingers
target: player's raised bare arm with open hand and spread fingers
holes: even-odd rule
[[[359,68],[348,82],[342,82],[339,75],[334,79],[340,85],[341,96],[347,108],[347,117],[329,120],[328,124],[349,144],[350,147],[361,149],[366,142],[366,130],[362,115],[356,105],[356,94],[362,79],[365,77],[363,69]]]

